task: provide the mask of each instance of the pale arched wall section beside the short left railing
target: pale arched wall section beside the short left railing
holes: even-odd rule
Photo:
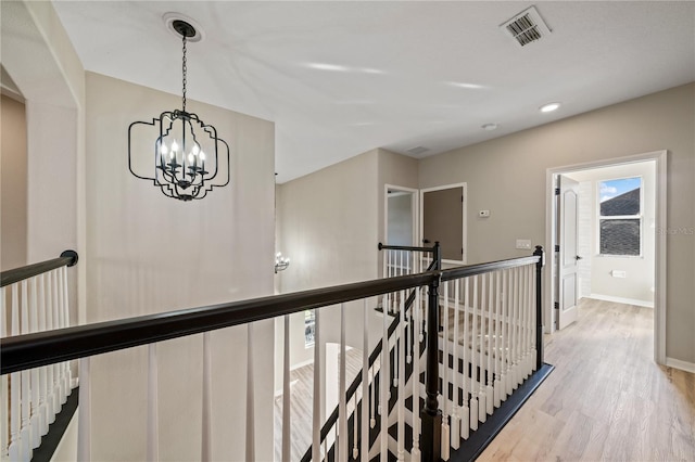
[[[85,255],[84,68],[51,2],[0,2],[2,66],[25,98],[26,260]],[[31,56],[31,59],[27,59]],[[84,316],[85,260],[68,271],[71,323]]]

